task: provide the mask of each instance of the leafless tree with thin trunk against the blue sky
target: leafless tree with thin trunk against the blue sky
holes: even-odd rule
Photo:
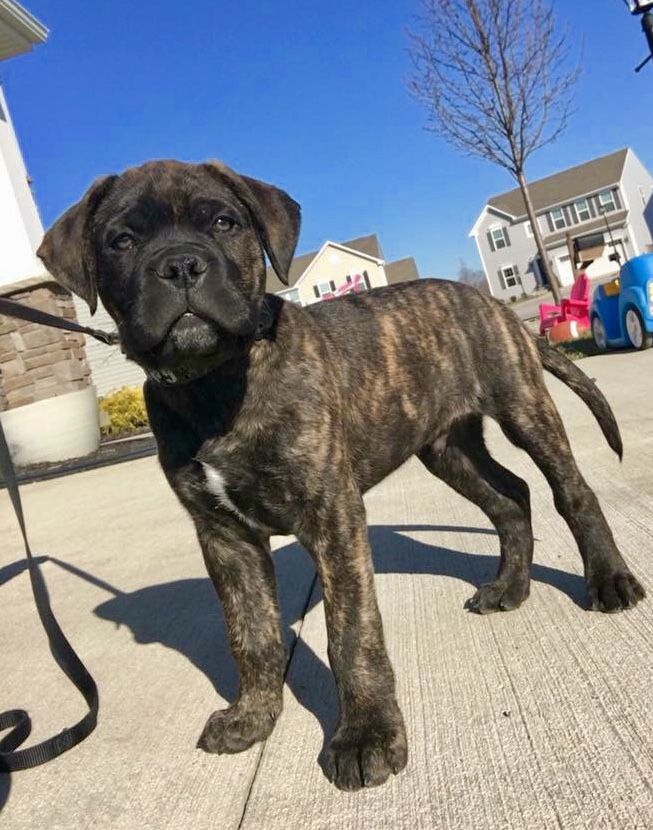
[[[409,88],[426,107],[427,129],[517,180],[544,276],[559,301],[525,173],[529,157],[565,130],[578,77],[551,3],[421,0],[418,22],[409,32]]]

